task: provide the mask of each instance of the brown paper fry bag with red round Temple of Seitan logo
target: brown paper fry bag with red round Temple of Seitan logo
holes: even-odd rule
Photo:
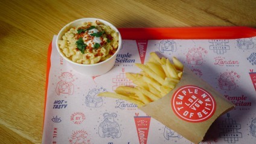
[[[184,67],[183,72],[171,92],[139,109],[191,142],[199,143],[211,124],[234,104],[188,68]]]

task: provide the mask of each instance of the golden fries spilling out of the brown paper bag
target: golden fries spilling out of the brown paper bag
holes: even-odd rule
[[[136,85],[119,86],[115,92],[102,92],[100,97],[119,98],[142,107],[158,100],[175,88],[181,80],[184,65],[177,58],[159,58],[155,52],[150,53],[146,64],[135,64],[140,73],[126,73],[126,77]]]

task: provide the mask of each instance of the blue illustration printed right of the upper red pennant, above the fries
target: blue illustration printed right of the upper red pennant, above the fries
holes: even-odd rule
[[[165,51],[176,52],[176,43],[174,40],[162,40],[159,44],[159,51],[164,53]]]

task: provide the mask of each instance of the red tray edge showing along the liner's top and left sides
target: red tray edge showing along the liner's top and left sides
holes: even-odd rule
[[[245,26],[220,26],[197,28],[118,28],[123,40],[163,40],[163,39],[236,39],[256,36],[256,29]],[[51,67],[51,43],[48,47],[45,106],[48,77]],[[45,117],[45,108],[43,121]]]

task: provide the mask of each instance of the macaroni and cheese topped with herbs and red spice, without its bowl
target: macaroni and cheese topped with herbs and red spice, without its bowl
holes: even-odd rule
[[[58,40],[62,53],[79,64],[96,64],[110,58],[118,49],[118,33],[96,20],[69,29]]]

